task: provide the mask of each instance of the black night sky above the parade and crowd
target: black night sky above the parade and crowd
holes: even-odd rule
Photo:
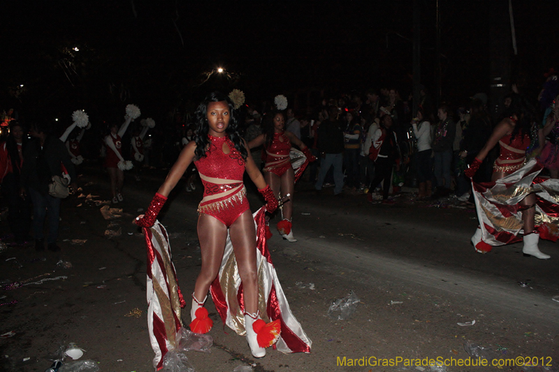
[[[421,82],[434,91],[436,1],[420,3]],[[126,103],[163,117],[212,89],[233,87],[249,102],[307,91],[411,91],[412,0],[4,1],[1,7],[0,108],[29,117],[69,118],[80,107],[110,118],[122,116]],[[442,99],[458,103],[488,93],[495,45],[503,50],[497,65],[510,64],[511,79],[530,95],[549,68],[558,69],[557,2],[515,0],[513,7],[518,56],[511,58],[508,1],[440,0]],[[227,74],[205,80],[220,66]],[[20,84],[26,90],[14,98],[10,88]]]

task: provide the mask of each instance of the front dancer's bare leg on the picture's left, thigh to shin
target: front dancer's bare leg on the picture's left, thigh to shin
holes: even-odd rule
[[[219,267],[222,265],[227,228],[217,218],[208,216],[208,214],[201,214],[198,217],[198,239],[200,240],[200,251],[202,253],[202,269],[198,278],[196,278],[194,297],[203,301],[208,295],[212,281],[219,273]]]

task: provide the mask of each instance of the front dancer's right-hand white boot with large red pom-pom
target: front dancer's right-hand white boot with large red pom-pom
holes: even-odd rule
[[[282,331],[279,319],[266,324],[259,318],[260,311],[256,313],[245,313],[245,329],[247,331],[247,342],[249,343],[252,356],[261,358],[266,356],[266,348],[276,343],[279,333]]]

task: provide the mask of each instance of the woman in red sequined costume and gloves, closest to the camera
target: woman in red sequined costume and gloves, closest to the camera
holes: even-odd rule
[[[191,329],[205,333],[211,328],[212,322],[203,304],[222,264],[229,233],[242,281],[247,341],[254,357],[263,357],[266,350],[257,343],[252,327],[248,327],[259,318],[259,285],[256,276],[256,230],[242,183],[245,171],[264,196],[268,211],[273,212],[278,203],[254,164],[247,144],[238,134],[233,113],[233,103],[228,97],[219,93],[206,97],[196,112],[196,140],[182,149],[146,214],[138,216],[135,222],[142,227],[150,227],[155,223],[170,191],[194,161],[204,185],[204,193],[198,207],[202,269],[192,294]],[[200,330],[198,325],[203,320],[209,324]]]

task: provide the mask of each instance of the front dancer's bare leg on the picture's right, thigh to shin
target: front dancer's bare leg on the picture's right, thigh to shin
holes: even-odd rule
[[[235,259],[245,294],[245,312],[258,311],[258,273],[256,269],[256,229],[254,218],[246,210],[229,228]],[[219,266],[218,266],[219,269]]]

